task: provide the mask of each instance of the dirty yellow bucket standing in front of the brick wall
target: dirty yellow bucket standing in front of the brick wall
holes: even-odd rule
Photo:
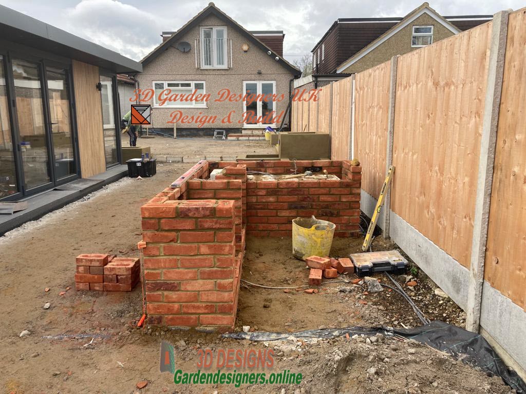
[[[336,225],[325,220],[297,217],[292,220],[292,255],[298,260],[329,255]]]

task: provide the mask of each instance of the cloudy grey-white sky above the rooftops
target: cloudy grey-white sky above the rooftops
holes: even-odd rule
[[[441,15],[494,14],[518,9],[526,0],[428,1]],[[215,5],[247,30],[284,30],[284,57],[310,54],[338,18],[404,16],[419,0],[216,0]],[[208,1],[159,0],[0,0],[50,25],[140,60],[160,42],[162,31],[177,30]]]

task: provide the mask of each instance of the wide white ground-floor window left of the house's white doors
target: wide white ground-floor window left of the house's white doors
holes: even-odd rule
[[[166,89],[169,89],[166,90]],[[190,95],[195,91],[197,95],[205,94],[205,82],[201,81],[155,81],[154,82],[154,107],[184,108],[184,107],[206,107],[206,101],[191,101]],[[164,92],[164,93],[163,93]],[[164,104],[161,101],[169,97]]]

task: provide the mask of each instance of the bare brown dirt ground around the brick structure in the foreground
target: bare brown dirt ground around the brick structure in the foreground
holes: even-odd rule
[[[164,163],[153,178],[120,180],[84,201],[0,237],[0,310],[4,322],[0,325],[0,392],[511,392],[500,378],[489,378],[449,356],[411,342],[385,338],[367,343],[362,337],[342,337],[312,343],[294,338],[255,343],[215,334],[137,329],[134,325],[141,315],[140,287],[131,293],[76,292],[75,256],[94,252],[137,255],[140,205],[187,167]],[[335,240],[331,255],[341,257],[358,251],[361,242]],[[242,278],[268,286],[305,285],[308,271],[304,263],[290,255],[290,239],[249,237]],[[460,309],[442,307],[450,300],[434,296],[428,287],[431,285],[421,275],[416,273],[419,285],[414,287],[413,298],[422,297],[420,302],[415,300],[423,312],[433,318],[446,314],[442,319],[452,322],[461,319]],[[406,286],[405,278],[397,279]],[[312,295],[294,289],[285,293],[282,289],[242,286],[236,327],[249,325],[292,334],[306,328],[417,324],[412,309],[396,294],[383,291],[367,295],[362,286],[342,293],[338,291],[340,285],[322,285],[320,292]],[[47,302],[51,306],[44,309]],[[23,330],[31,334],[20,338]],[[173,375],[159,372],[161,339],[174,344],[177,369],[196,371],[200,348],[274,349],[274,367],[266,372],[288,369],[301,372],[304,380],[298,386],[175,385]],[[142,380],[148,385],[139,390],[136,383]]]

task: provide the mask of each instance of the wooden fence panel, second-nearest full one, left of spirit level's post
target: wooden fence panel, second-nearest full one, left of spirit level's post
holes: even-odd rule
[[[386,177],[391,61],[355,76],[355,157],[361,188],[378,199]]]

